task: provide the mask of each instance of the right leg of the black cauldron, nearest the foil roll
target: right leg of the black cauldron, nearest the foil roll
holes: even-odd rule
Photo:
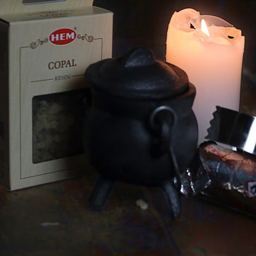
[[[167,206],[170,210],[170,213],[173,218],[178,218],[181,213],[181,204],[180,204],[180,196],[178,196],[178,192],[175,188],[174,183],[170,180],[162,183],[161,186],[164,194],[167,198]]]

